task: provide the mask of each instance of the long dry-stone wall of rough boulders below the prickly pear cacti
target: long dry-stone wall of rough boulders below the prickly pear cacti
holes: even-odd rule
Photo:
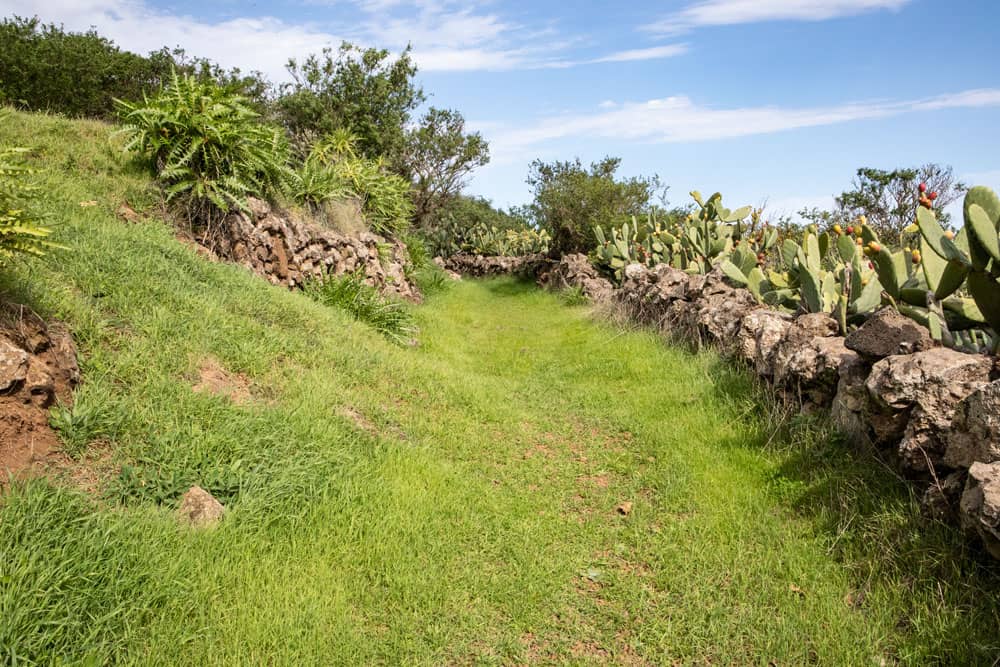
[[[829,409],[922,492],[929,516],[960,523],[1000,558],[1000,363],[939,347],[894,309],[846,338],[829,315],[761,306],[718,271],[626,267],[620,288],[591,285],[586,258],[564,258],[546,286],[580,285],[619,317],[708,343],[746,363],[804,410]]]

